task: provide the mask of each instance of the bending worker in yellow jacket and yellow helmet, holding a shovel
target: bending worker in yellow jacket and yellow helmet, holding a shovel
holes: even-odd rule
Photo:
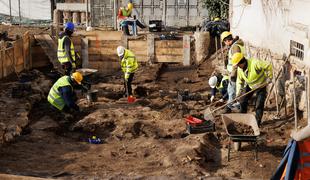
[[[256,93],[256,121],[260,125],[264,104],[266,100],[267,90],[265,84],[272,80],[272,65],[270,62],[257,60],[254,58],[246,59],[242,53],[235,53],[232,56],[233,66],[238,66],[236,94],[240,96],[242,93],[255,90],[240,99],[241,113],[246,113],[248,110],[248,101]],[[263,86],[263,87],[262,87]]]

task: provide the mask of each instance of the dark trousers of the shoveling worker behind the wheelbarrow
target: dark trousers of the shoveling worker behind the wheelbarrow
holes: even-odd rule
[[[251,88],[249,86],[246,87],[246,92],[251,91]],[[266,100],[266,95],[267,95],[267,90],[266,87],[260,88],[246,96],[240,99],[240,105],[241,113],[247,113],[248,111],[248,105],[249,105],[249,100],[253,96],[253,94],[256,93],[256,102],[255,102],[255,117],[258,125],[260,125],[264,113],[264,105],[265,105],[265,100]]]

